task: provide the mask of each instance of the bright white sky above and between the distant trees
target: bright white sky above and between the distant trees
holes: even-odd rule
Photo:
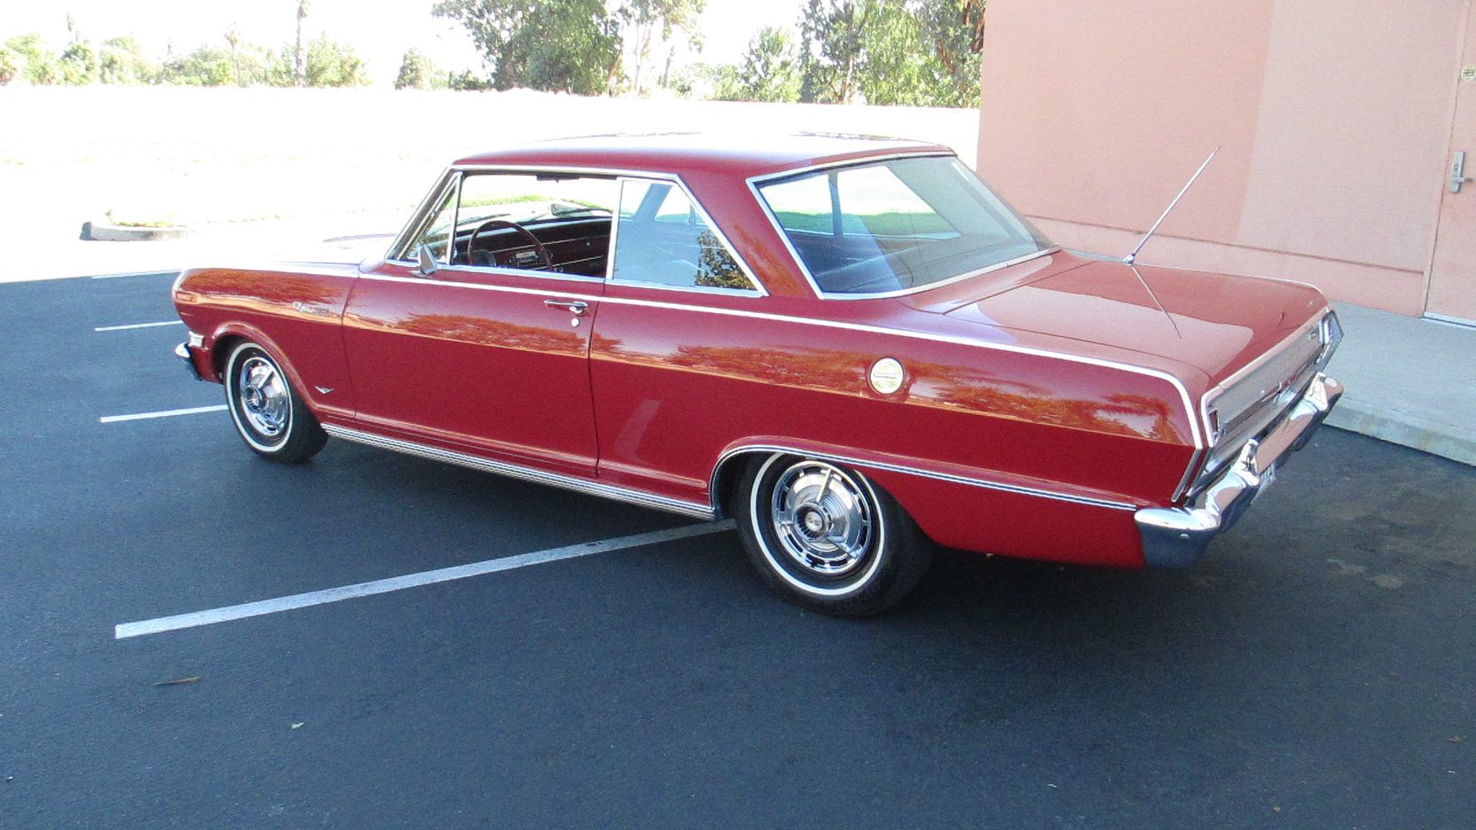
[[[766,25],[794,25],[804,0],[707,0],[701,31],[701,59],[737,62],[748,38]],[[431,16],[432,0],[310,0],[304,40],[319,32],[347,41],[369,66],[375,83],[388,84],[400,68],[400,56],[415,46],[447,69],[478,65],[471,40],[449,21]],[[196,46],[224,47],[232,27],[244,40],[276,47],[294,38],[297,0],[61,0],[40,3],[13,0],[0,16],[0,40],[38,32],[53,50],[66,43],[66,15],[94,44],[131,34],[146,50],[162,55]],[[657,58],[652,55],[652,58]]]

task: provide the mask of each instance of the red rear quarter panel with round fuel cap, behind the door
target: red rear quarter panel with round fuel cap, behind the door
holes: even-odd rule
[[[611,481],[692,498],[719,458],[778,445],[1162,504],[1193,453],[1181,394],[1162,378],[877,331],[905,322],[886,300],[639,291],[610,287],[592,346],[599,473]],[[815,318],[821,309],[832,316]],[[881,357],[906,368],[894,394],[868,384]],[[889,489],[924,529],[952,510],[927,504],[930,486]]]

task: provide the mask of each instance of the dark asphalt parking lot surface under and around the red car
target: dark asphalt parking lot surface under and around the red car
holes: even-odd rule
[[[951,554],[855,622],[714,532],[117,639],[689,524],[102,422],[221,402],[94,331],[171,278],[0,285],[0,827],[1473,826],[1476,470],[1336,430],[1188,573]]]

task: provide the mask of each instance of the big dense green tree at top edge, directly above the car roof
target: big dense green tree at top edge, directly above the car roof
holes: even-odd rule
[[[598,95],[620,62],[602,0],[443,0],[432,13],[466,28],[496,89]]]

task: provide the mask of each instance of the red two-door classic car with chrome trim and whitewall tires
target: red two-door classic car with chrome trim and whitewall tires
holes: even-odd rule
[[[930,543],[1187,564],[1342,391],[1317,289],[1073,255],[946,148],[853,136],[474,155],[382,257],[174,301],[261,456],[332,436],[734,517],[772,586],[849,614]]]

